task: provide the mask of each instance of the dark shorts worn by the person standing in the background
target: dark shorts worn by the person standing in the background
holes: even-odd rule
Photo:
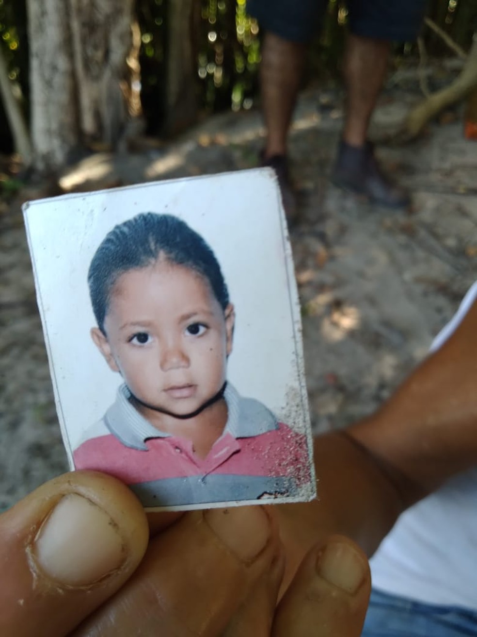
[[[364,38],[406,42],[417,37],[427,0],[348,0],[350,31]],[[307,43],[328,0],[247,0],[247,11],[265,30]]]

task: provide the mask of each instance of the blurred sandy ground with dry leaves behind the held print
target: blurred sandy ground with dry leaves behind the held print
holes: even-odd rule
[[[373,122],[380,138],[411,93],[388,91]],[[425,355],[475,278],[477,143],[462,122],[434,124],[406,147],[379,147],[387,169],[413,191],[410,211],[371,208],[329,185],[342,124],[338,96],[308,90],[290,153],[301,218],[291,239],[315,431],[371,412]],[[250,168],[262,144],[256,111],[207,120],[172,145],[98,154],[66,173],[64,189]],[[21,199],[0,208],[0,510],[66,469],[53,404]],[[226,204],[226,202],[225,202]]]

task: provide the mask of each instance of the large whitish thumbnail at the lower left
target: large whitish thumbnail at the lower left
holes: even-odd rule
[[[60,499],[39,529],[30,555],[42,573],[73,587],[97,582],[126,557],[117,524],[78,494]]]

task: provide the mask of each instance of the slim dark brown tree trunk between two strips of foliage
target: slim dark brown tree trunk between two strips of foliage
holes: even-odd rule
[[[167,135],[183,131],[197,120],[197,59],[194,28],[197,0],[169,0],[167,28],[167,90],[165,127]]]

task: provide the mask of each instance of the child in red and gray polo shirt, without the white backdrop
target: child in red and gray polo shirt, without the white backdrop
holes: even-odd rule
[[[144,506],[293,496],[310,480],[304,434],[227,381],[235,310],[198,233],[139,214],[107,234],[88,284],[92,339],[123,383],[77,469],[121,478]]]

